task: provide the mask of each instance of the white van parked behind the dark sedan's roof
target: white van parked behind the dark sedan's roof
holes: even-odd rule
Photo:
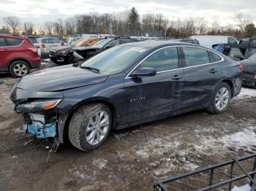
[[[197,39],[200,45],[211,48],[214,44],[238,44],[238,40],[233,36],[219,35],[194,35],[189,39]]]

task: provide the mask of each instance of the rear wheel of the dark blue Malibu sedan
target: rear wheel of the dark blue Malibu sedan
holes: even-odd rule
[[[223,95],[221,95],[222,92],[223,92]],[[220,100],[219,98],[222,99],[222,101],[219,102],[218,101]],[[230,104],[230,99],[231,99],[230,85],[228,85],[225,82],[220,82],[217,85],[217,87],[215,87],[214,93],[211,96],[210,104],[206,110],[208,112],[211,112],[212,114],[220,114],[222,112],[225,112],[228,105]],[[219,104],[219,103],[222,103],[222,104]]]

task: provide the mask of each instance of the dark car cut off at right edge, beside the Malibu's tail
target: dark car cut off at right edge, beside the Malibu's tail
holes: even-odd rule
[[[241,61],[240,63],[244,66],[243,85],[256,87],[256,54],[244,61]]]

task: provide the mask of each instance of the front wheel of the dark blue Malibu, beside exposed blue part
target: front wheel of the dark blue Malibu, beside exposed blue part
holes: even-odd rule
[[[102,113],[103,115],[100,117],[100,114]],[[108,118],[105,122],[105,126],[100,128],[102,131],[99,130],[99,126],[95,125],[97,124],[96,116],[99,117],[99,122],[103,122]],[[108,128],[106,128],[107,126]],[[86,152],[92,151],[100,147],[108,138],[111,126],[112,112],[108,106],[105,104],[89,104],[81,106],[78,111],[72,115],[69,122],[69,141],[74,147],[80,150]]]

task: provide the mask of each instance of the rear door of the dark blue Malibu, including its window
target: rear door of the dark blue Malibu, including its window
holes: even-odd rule
[[[183,110],[206,106],[221,78],[215,52],[200,47],[182,47],[184,56]]]

